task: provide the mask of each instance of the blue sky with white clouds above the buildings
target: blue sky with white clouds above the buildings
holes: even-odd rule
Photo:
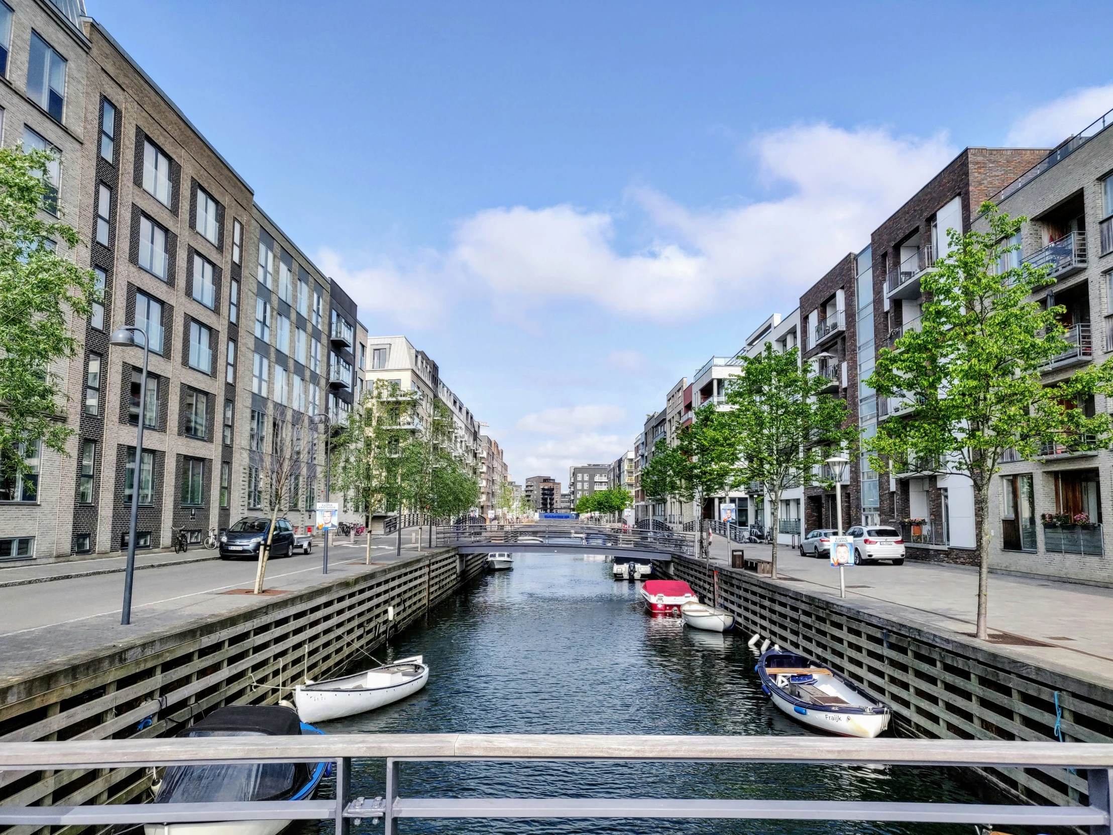
[[[518,481],[628,449],[964,146],[1113,108],[1101,2],[86,2]]]

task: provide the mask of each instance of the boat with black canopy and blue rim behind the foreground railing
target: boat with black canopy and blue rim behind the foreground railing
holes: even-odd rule
[[[301,721],[288,707],[235,705],[214,710],[178,736],[301,736],[321,733]],[[313,797],[326,770],[325,763],[171,766],[158,784],[155,803],[307,800]],[[145,824],[144,832],[146,835],[277,835],[290,823],[293,819]]]

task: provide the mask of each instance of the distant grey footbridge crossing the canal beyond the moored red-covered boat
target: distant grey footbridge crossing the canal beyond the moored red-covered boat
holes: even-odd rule
[[[439,527],[434,542],[460,553],[602,553],[670,560],[696,554],[696,534],[592,524],[456,524]]]

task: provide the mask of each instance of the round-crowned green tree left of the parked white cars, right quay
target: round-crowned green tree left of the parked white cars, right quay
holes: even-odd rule
[[[799,348],[777,352],[767,342],[761,353],[739,360],[741,372],[727,384],[723,414],[737,442],[738,484],[757,482],[770,500],[776,578],[781,494],[810,483],[827,450],[851,444],[856,430],[846,425],[846,401],[820,393],[827,381],[810,363],[800,363]]]

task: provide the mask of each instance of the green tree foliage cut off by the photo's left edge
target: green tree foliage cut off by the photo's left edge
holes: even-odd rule
[[[20,445],[66,454],[58,360],[77,354],[73,323],[91,312],[96,275],[71,259],[78,234],[42,212],[57,209],[52,157],[0,148],[0,461],[26,466]]]

